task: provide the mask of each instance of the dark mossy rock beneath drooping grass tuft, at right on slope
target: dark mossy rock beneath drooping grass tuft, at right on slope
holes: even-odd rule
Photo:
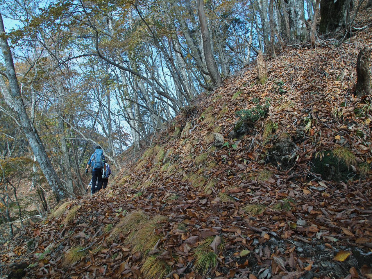
[[[312,160],[311,169],[314,173],[320,174],[324,180],[347,182],[350,179],[357,179],[357,174],[352,168],[348,168],[345,163],[334,157],[331,150],[323,151]]]

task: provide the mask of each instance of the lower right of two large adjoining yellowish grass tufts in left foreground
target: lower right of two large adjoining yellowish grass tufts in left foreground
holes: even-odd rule
[[[147,222],[143,222],[141,228],[126,240],[126,243],[132,243],[132,253],[141,252],[147,254],[148,251],[152,250],[158,240],[163,238],[163,234],[155,234],[155,229],[160,229],[162,226],[161,222],[165,220],[165,216],[156,215]]]

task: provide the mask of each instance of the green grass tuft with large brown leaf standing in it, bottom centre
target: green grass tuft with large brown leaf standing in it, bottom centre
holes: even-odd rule
[[[214,240],[214,236],[206,237],[198,247],[195,248],[195,263],[194,268],[198,273],[206,275],[209,269],[213,269],[218,264],[218,254],[225,250],[225,241],[221,238],[221,244],[217,247],[217,253],[214,253],[210,246]]]

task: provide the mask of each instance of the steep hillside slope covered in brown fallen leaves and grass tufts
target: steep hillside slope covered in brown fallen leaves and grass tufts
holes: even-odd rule
[[[372,278],[372,101],[352,94],[371,44],[369,28],[339,48],[289,48],[264,85],[249,65],[183,108],[110,189],[4,244],[3,274]]]

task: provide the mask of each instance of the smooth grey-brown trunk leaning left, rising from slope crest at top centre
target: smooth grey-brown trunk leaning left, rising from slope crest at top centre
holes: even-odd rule
[[[203,38],[203,50],[204,50],[204,58],[205,64],[207,66],[209,76],[211,77],[213,86],[221,86],[222,80],[221,76],[219,75],[218,68],[216,62],[213,57],[212,48],[211,48],[211,37],[209,36],[209,30],[207,25],[207,20],[204,11],[204,1],[197,0],[196,4],[198,6],[198,17],[200,23],[200,30],[202,33]]]

